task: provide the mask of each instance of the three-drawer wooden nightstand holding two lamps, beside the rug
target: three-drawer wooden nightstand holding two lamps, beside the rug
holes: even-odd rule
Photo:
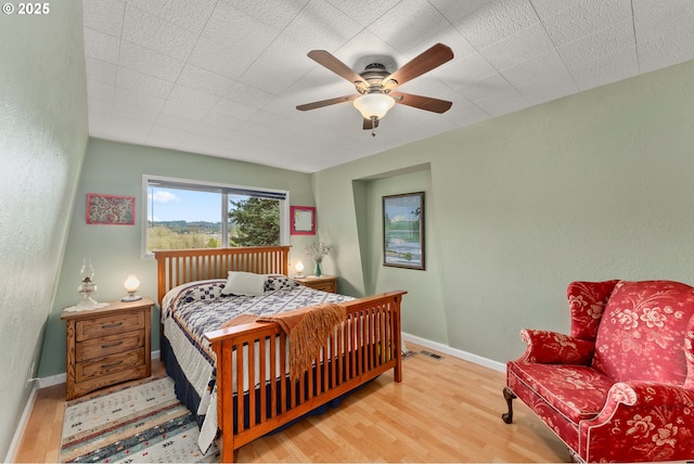
[[[67,399],[108,385],[149,377],[154,301],[112,301],[104,308],[63,311],[67,323]]]

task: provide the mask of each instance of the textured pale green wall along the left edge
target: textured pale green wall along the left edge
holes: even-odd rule
[[[79,0],[51,3],[46,16],[0,15],[3,456],[34,386],[27,379],[53,301],[87,145],[86,80]]]

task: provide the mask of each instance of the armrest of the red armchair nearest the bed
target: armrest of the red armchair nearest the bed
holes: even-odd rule
[[[527,348],[519,361],[543,364],[589,365],[593,359],[595,343],[582,340],[552,331],[524,328],[520,339]]]

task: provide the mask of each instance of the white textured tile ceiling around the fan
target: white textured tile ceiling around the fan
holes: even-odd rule
[[[83,0],[92,137],[313,172],[694,59],[693,0]],[[306,56],[389,72],[436,42],[454,59],[398,90],[377,136]]]

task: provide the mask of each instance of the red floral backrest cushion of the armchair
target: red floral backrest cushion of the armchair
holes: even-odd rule
[[[683,336],[694,313],[694,289],[669,281],[620,281],[597,330],[593,366],[615,382],[682,385]]]

